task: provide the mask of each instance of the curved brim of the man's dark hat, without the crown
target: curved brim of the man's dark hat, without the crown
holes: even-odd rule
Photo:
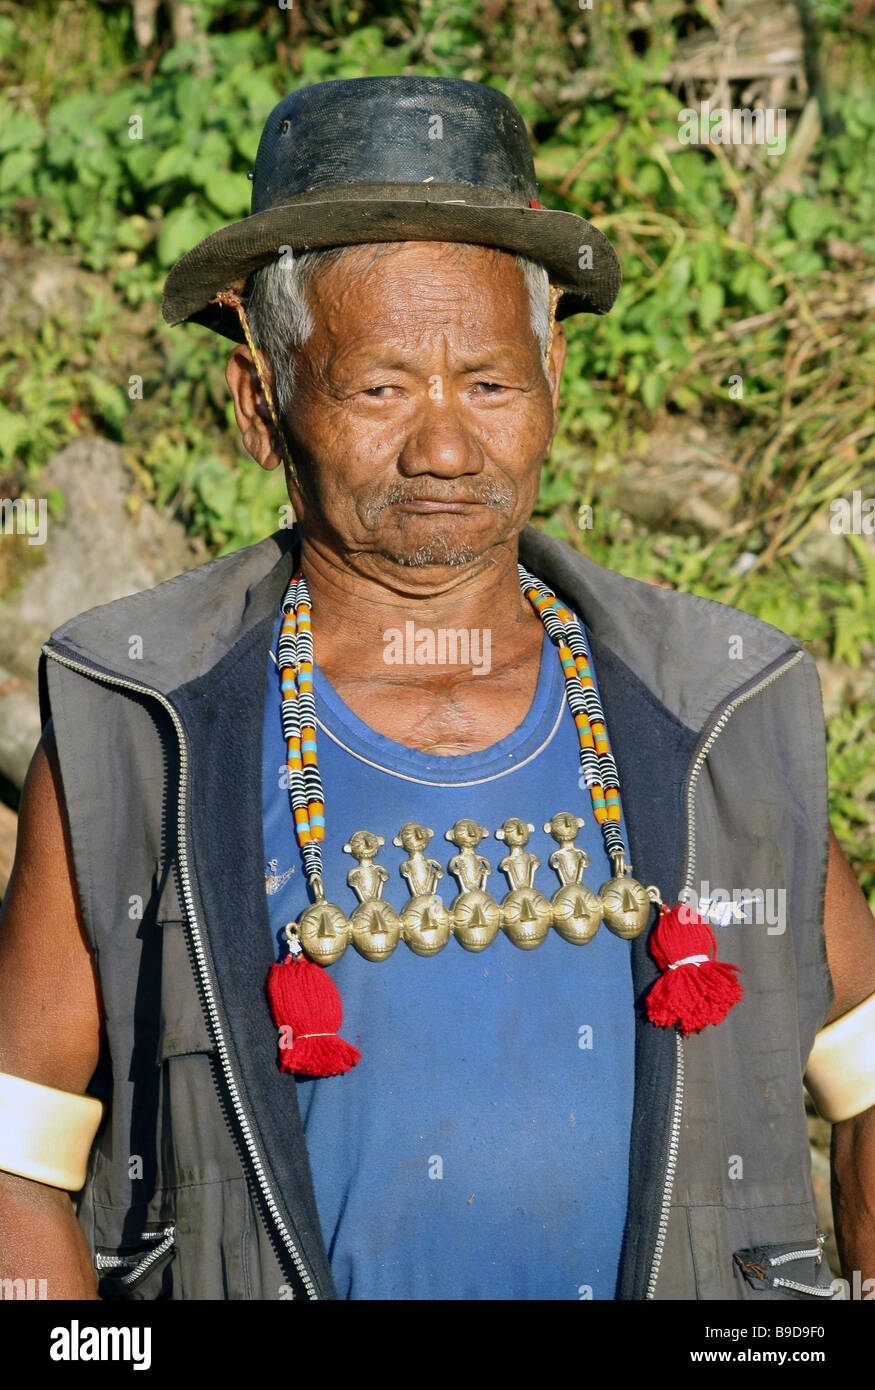
[[[481,195],[480,189],[453,192]],[[236,314],[211,300],[223,289],[242,289],[253,271],[288,254],[281,247],[295,253],[406,240],[497,246],[540,261],[562,289],[556,318],[607,314],[622,284],[613,246],[576,213],[431,199],[422,192],[417,197],[351,197],[348,189],[338,189],[337,197],[323,193],[320,200],[271,207],[206,236],[170,271],[161,310],[168,324],[199,322],[242,342]]]

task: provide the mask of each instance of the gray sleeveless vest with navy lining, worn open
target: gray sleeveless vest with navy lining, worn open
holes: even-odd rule
[[[106,1019],[90,1088],[107,1113],[78,1204],[104,1297],[337,1297],[264,997],[262,719],[298,543],[277,531],[90,609],[43,648]],[[658,972],[648,933],[633,942],[619,1297],[830,1297],[801,1083],[832,1004],[814,662],[736,609],[530,527],[520,559],[586,621],[636,877],[669,903],[748,890],[782,908],[718,929],[744,999],[687,1040],[647,1020]]]

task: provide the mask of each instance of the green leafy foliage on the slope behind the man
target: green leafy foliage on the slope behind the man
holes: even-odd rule
[[[677,140],[686,99],[664,72],[709,7],[597,8],[199,0],[195,39],[174,46],[160,31],[142,54],[128,4],[0,0],[0,236],[72,256],[106,285],[81,324],[13,322],[0,359],[0,471],[25,486],[67,439],[97,431],[127,445],[154,500],[213,550],[274,530],[282,482],[241,460],[224,345],[160,321],[167,268],[246,214],[262,125],[288,90],[408,71],[492,82],[534,132],[541,202],[591,217],[623,261],[613,311],[569,324],[538,524],[600,563],[746,607],[817,656],[851,669],[871,660],[867,545],[849,537],[860,567],[846,581],[793,559],[829,499],[872,475],[875,96],[853,78],[861,44],[871,61],[858,7],[807,0],[832,44],[825,133],[786,188],[775,178],[782,158],[761,149],[740,167]],[[132,373],[142,400],[128,396]],[[730,377],[743,379],[743,398],[730,398]],[[648,532],[619,506],[630,452],[645,456],[655,428],[694,423],[732,431],[741,463],[740,500],[707,542],[671,524]],[[581,503],[591,530],[579,527]],[[751,553],[741,574],[739,557]],[[829,756],[836,826],[875,902],[864,848],[875,831],[874,713],[869,699],[843,714]]]

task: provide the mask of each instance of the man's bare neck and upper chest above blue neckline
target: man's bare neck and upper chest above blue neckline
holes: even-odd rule
[[[458,756],[492,746],[526,717],[544,631],[520,592],[516,541],[440,571],[346,562],[305,539],[302,569],[316,663],[376,733]]]

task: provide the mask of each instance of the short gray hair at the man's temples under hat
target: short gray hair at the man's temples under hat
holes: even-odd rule
[[[459,243],[467,245],[467,243]],[[371,260],[366,270],[398,242],[374,245]],[[326,250],[303,252],[292,256],[291,250],[278,260],[262,265],[249,282],[246,317],[256,348],[262,348],[274,368],[277,407],[281,414],[289,407],[294,388],[295,363],[292,353],[300,348],[316,327],[306,288],[323,270],[339,264],[358,246],[330,246]],[[515,256],[523,272],[529,291],[529,311],[531,331],[541,348],[541,366],[547,373],[545,354],[549,334],[549,275],[537,261]]]

